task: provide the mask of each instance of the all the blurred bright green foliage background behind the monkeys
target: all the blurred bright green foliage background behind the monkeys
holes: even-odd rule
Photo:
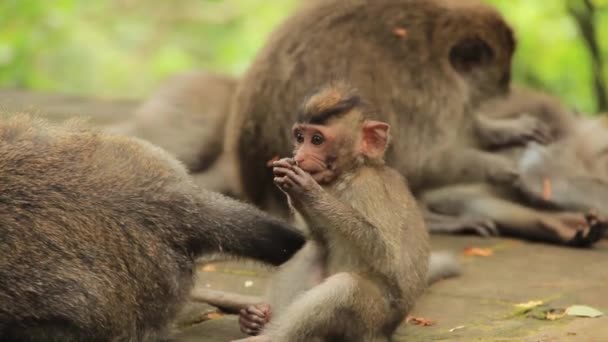
[[[0,0],[0,87],[141,98],[180,71],[240,75],[304,1]],[[515,28],[517,82],[607,110],[596,83],[608,79],[608,0],[487,1]],[[595,63],[572,8],[592,25]]]

